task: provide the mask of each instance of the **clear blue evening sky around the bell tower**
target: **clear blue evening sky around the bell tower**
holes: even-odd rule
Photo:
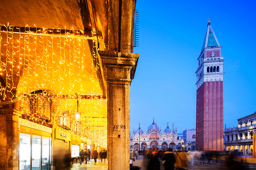
[[[222,47],[224,126],[256,111],[256,1],[140,1],[140,57],[131,83],[131,130],[196,126],[196,74],[207,19]]]

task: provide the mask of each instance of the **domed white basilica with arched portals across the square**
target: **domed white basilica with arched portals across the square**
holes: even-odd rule
[[[166,129],[162,132],[153,118],[153,123],[148,126],[147,132],[144,132],[140,126],[137,130],[133,129],[130,137],[131,150],[168,150],[168,148],[184,150],[183,134],[177,133],[177,127],[173,131],[167,123]]]

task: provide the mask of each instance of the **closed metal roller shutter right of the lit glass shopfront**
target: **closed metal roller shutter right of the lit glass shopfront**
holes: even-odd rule
[[[69,166],[69,162],[67,161],[71,156],[69,143],[70,142],[58,139],[54,141],[54,160],[56,170],[66,169]]]

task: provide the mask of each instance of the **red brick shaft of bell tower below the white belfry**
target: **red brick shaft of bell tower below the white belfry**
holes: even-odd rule
[[[223,150],[222,83],[222,81],[204,82],[197,89],[196,150]]]

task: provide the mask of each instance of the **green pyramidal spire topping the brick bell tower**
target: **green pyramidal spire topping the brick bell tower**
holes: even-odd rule
[[[211,28],[210,19],[208,19],[207,30],[205,33],[205,38],[203,41],[201,52],[205,48],[212,48],[212,47],[219,47],[219,46],[220,46],[220,44],[217,40],[217,37],[215,36],[213,29]],[[201,52],[200,52],[200,54],[201,54]]]

